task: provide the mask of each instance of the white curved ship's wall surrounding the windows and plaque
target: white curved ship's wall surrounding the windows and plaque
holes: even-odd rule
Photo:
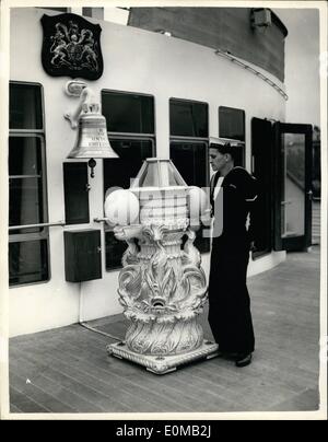
[[[44,13],[56,12],[19,8],[11,12],[10,80],[39,83],[44,94],[46,182],[48,220],[65,220],[62,163],[74,146],[77,131],[63,114],[77,107],[79,98],[65,93],[68,77],[50,77],[42,66],[40,49]],[[136,92],[154,96],[155,154],[169,158],[169,98],[208,103],[209,136],[218,137],[218,108],[229,106],[245,111],[246,168],[250,170],[250,120],[253,117],[284,121],[284,97],[259,77],[211,48],[175,37],[87,19],[102,26],[104,73],[86,81],[101,100],[103,90]],[[283,89],[280,81],[265,72]],[[84,81],[84,80],[83,80]],[[75,160],[72,160],[75,161]],[[50,278],[46,282],[10,288],[10,336],[61,327],[122,312],[118,302],[119,270],[105,268],[102,160],[97,160],[95,177],[89,181],[90,223],[49,228]],[[67,282],[65,277],[63,231],[99,229],[102,235],[102,279]],[[202,266],[209,272],[209,253],[202,254]],[[250,259],[249,275],[268,270],[285,258],[285,252],[271,252]]]

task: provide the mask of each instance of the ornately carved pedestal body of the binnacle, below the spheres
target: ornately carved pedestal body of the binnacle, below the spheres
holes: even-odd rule
[[[128,243],[118,293],[130,319],[125,344],[136,353],[183,354],[203,342],[197,316],[207,299],[206,275],[195,232],[187,219],[178,221],[115,228]]]

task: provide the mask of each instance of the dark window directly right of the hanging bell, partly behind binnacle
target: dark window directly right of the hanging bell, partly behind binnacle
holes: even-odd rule
[[[104,196],[109,188],[129,188],[143,163],[155,152],[154,97],[150,95],[103,91],[103,115],[108,138],[119,159],[104,160]],[[106,269],[121,267],[127,244],[117,241],[105,224]]]

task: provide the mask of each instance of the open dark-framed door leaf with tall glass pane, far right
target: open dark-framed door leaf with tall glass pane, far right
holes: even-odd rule
[[[312,244],[312,126],[276,123],[274,249]]]

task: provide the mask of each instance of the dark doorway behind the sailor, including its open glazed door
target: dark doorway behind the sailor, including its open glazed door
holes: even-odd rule
[[[312,126],[251,119],[251,172],[261,216],[254,258],[312,244]]]

